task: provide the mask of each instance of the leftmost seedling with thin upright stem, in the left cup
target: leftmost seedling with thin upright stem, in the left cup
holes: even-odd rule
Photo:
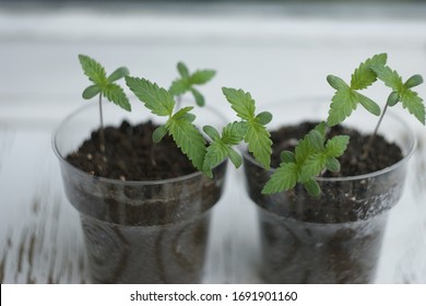
[[[84,74],[88,76],[88,80],[93,82],[83,91],[83,98],[91,99],[98,95],[99,99],[99,150],[105,152],[105,136],[104,136],[104,116],[102,110],[102,97],[105,96],[109,102],[113,102],[121,108],[130,111],[131,106],[128,97],[120,85],[115,81],[122,79],[129,74],[129,70],[126,67],[116,69],[109,76],[107,76],[105,68],[93,58],[85,55],[79,55],[80,64],[84,71]]]

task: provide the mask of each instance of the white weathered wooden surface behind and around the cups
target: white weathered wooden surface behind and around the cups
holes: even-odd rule
[[[190,69],[214,68],[217,76],[203,89],[208,103],[227,111],[220,90],[226,85],[250,91],[261,108],[301,95],[331,97],[326,75],[347,79],[376,52],[387,51],[404,78],[426,76],[425,16],[424,5],[0,5],[1,283],[87,282],[78,213],[63,196],[50,146],[54,128],[86,103],[78,54],[109,71],[126,64],[164,86],[177,75],[178,60]],[[418,91],[426,96],[425,85]],[[425,130],[413,128],[426,150]],[[426,283],[425,163],[424,151],[412,160],[378,283]],[[260,282],[256,214],[241,172],[230,170],[227,184],[214,211],[204,282]]]

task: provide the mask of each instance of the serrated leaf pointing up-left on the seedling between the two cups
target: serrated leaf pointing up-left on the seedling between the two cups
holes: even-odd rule
[[[250,93],[226,87],[222,87],[222,92],[239,118],[244,120],[252,120],[255,118],[256,106]]]

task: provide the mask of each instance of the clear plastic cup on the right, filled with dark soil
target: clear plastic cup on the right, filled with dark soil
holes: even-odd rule
[[[326,120],[330,102],[299,98],[264,106],[274,115],[270,129]],[[371,133],[378,118],[359,107],[345,126]],[[270,172],[244,150],[247,192],[257,204],[261,231],[261,275],[272,283],[371,283],[388,213],[402,196],[407,161],[415,150],[411,129],[389,113],[379,133],[397,143],[403,160],[365,175],[318,177],[317,199],[297,185],[261,193]]]

